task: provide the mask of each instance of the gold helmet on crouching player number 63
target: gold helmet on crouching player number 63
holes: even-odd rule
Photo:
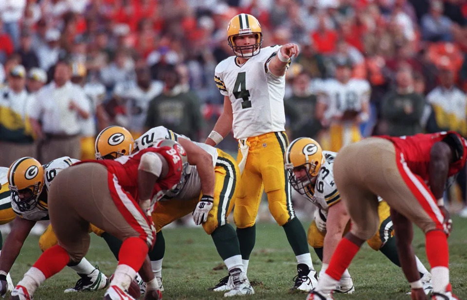
[[[299,137],[288,145],[284,161],[288,181],[295,190],[305,194],[305,187],[316,180],[324,162],[323,150],[314,139]]]

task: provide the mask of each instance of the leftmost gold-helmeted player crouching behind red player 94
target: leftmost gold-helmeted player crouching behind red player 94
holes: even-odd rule
[[[4,255],[0,255],[1,295],[4,295],[7,291],[5,286],[6,275],[18,257],[19,251],[32,227],[37,221],[49,220],[47,190],[54,176],[76,161],[69,157],[62,157],[42,166],[32,157],[22,157],[16,160],[8,169],[7,180],[11,191],[11,207],[16,217],[11,232],[5,240]],[[49,226],[40,237],[39,245],[44,250],[56,243],[54,232]],[[98,290],[103,289],[108,284],[107,277],[85,258],[70,265],[70,267],[81,278],[76,283],[75,288],[67,291]]]

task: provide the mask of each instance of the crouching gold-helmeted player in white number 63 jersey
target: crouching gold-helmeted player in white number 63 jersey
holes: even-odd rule
[[[314,221],[308,228],[308,243],[323,262],[320,276],[326,271],[337,244],[350,228],[350,217],[334,183],[332,168],[336,154],[323,151],[320,144],[311,138],[300,137],[290,143],[284,158],[292,187],[317,207]],[[380,199],[377,210],[378,231],[367,243],[400,267],[390,208]],[[432,292],[431,274],[416,256],[415,260],[422,276],[423,289],[428,295]],[[345,269],[335,292],[352,294],[354,290],[352,278]]]

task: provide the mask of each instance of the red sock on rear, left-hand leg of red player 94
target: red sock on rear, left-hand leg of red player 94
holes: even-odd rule
[[[69,262],[70,256],[65,248],[54,245],[42,253],[33,267],[39,269],[45,278],[49,278],[60,272]]]

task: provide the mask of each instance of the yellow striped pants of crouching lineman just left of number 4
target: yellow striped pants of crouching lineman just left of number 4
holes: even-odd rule
[[[207,234],[213,233],[218,226],[227,224],[227,217],[234,207],[235,191],[239,185],[240,170],[234,158],[222,150],[217,150],[217,162],[214,167],[216,174],[216,187],[214,190],[213,208],[209,212],[208,219],[203,223],[203,228]],[[163,226],[192,213],[199,200],[199,197],[192,200],[171,199],[161,201],[157,204],[152,214],[152,220],[159,232]]]

